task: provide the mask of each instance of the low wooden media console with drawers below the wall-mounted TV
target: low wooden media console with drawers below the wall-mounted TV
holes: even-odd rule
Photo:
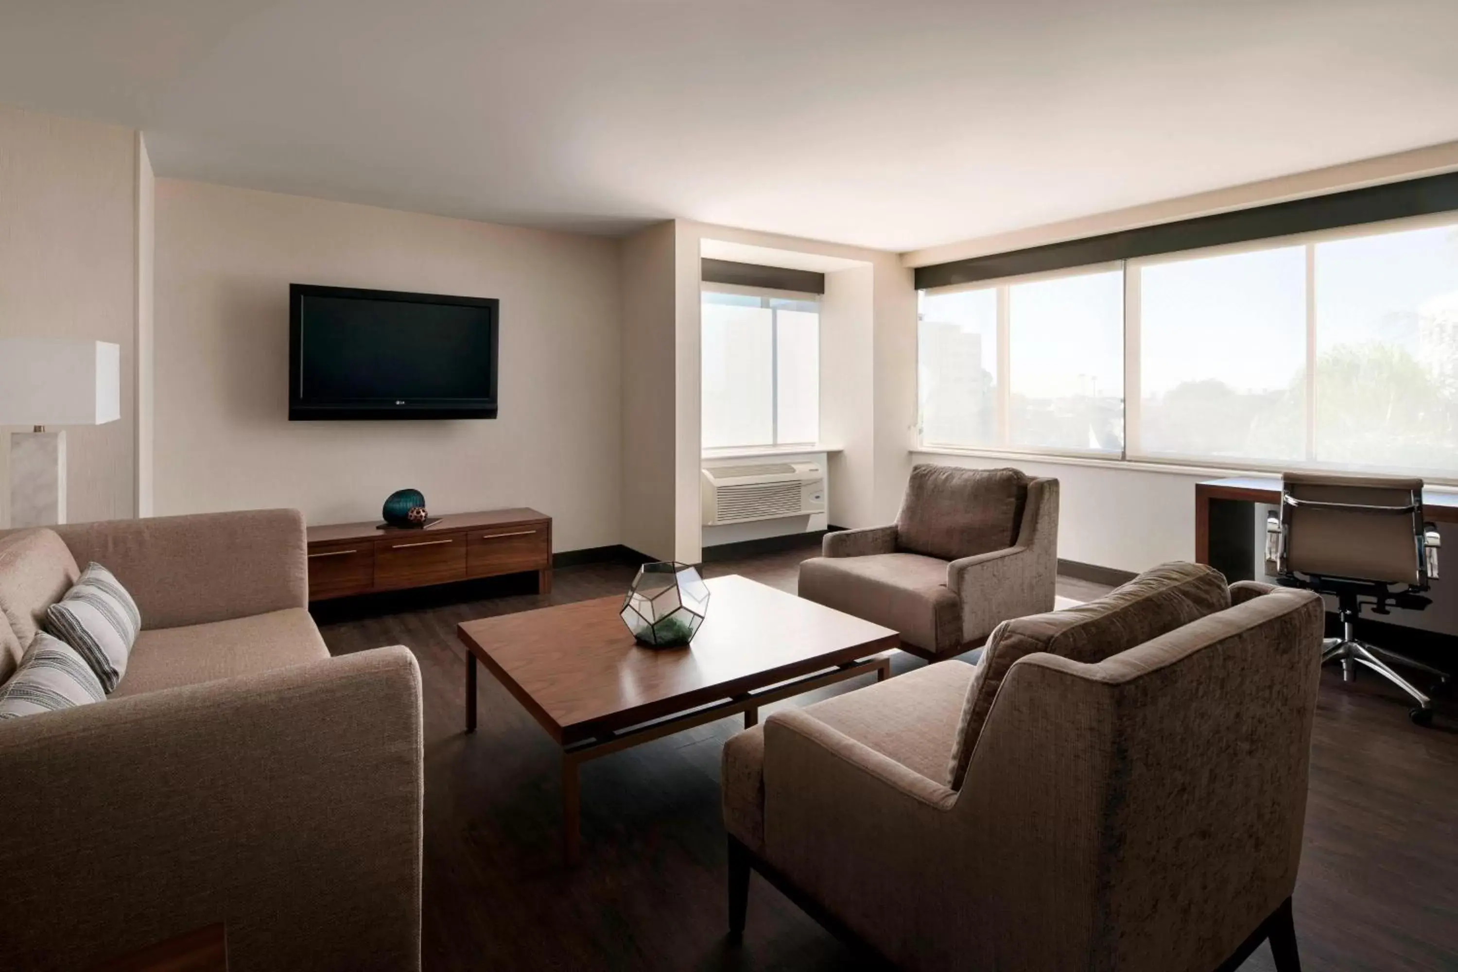
[[[529,509],[451,513],[423,529],[309,528],[309,600],[537,571],[551,593],[551,517]]]

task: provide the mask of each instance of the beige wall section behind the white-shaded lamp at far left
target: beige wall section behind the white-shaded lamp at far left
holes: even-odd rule
[[[136,513],[137,137],[0,106],[0,337],[121,345],[121,420],[70,427],[71,522]],[[0,525],[10,431],[0,428]]]

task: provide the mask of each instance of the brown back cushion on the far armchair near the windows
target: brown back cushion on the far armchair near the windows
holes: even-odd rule
[[[1012,546],[1028,478],[1016,469],[911,469],[897,516],[897,548],[958,560]]]

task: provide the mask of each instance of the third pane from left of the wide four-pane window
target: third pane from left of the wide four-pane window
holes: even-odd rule
[[[1303,459],[1305,370],[1305,246],[1140,270],[1142,452]]]

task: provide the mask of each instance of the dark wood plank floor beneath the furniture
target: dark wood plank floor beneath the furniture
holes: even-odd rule
[[[709,573],[795,590],[805,555],[712,564]],[[725,941],[719,752],[738,718],[586,764],[583,864],[573,871],[560,863],[558,756],[547,734],[490,675],[481,678],[480,732],[462,732],[458,622],[617,595],[631,577],[628,565],[599,564],[557,571],[550,599],[531,593],[531,579],[512,579],[316,609],[335,654],[399,643],[420,659],[426,969],[862,968],[758,879],[744,944]],[[1060,580],[1060,595],[1070,597],[1102,590]],[[895,662],[898,672],[919,665],[908,656]],[[1458,969],[1451,710],[1433,729],[1417,729],[1395,694],[1371,678],[1343,686],[1334,672],[1325,675],[1295,909],[1308,972]],[[1271,969],[1268,949],[1242,968]]]

